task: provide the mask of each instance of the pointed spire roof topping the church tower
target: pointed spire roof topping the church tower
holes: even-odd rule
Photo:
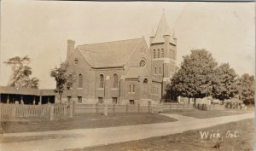
[[[172,34],[171,34],[170,27],[168,26],[168,22],[166,20],[166,15],[163,14],[160,18],[160,22],[157,27],[155,38],[153,39],[152,44],[164,43],[165,40],[163,36],[165,35],[169,35],[171,37],[171,43],[173,43]]]

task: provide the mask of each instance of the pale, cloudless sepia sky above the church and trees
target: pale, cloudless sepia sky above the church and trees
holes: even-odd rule
[[[238,75],[255,75],[255,4],[206,2],[1,2],[0,85],[7,85],[14,56],[28,55],[39,88],[55,88],[51,68],[75,45],[148,38],[165,12],[177,36],[177,66],[190,49],[207,49]]]

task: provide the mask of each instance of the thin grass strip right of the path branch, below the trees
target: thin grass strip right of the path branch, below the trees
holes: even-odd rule
[[[219,116],[228,116],[228,115],[235,115],[241,113],[252,113],[253,111],[243,111],[243,110],[170,110],[165,111],[164,113],[177,113],[183,116],[190,116],[197,119],[207,119],[207,118],[214,118]]]

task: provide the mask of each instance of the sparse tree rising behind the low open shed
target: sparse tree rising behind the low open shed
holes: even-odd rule
[[[28,66],[30,61],[31,59],[27,55],[24,57],[15,56],[8,61],[4,61],[12,69],[9,86],[38,89],[39,79],[30,78],[32,75],[32,68]]]

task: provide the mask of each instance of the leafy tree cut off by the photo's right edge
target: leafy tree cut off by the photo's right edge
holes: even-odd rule
[[[254,83],[254,76],[247,73],[238,78],[237,85],[240,98],[245,104],[254,104]]]

